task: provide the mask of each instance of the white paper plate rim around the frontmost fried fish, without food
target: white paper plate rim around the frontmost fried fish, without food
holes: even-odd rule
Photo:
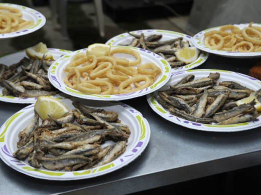
[[[82,104],[90,107],[118,112],[118,118],[121,119],[121,122],[128,125],[131,129],[126,150],[120,156],[110,163],[96,168],[71,172],[51,171],[45,168],[38,169],[30,166],[26,161],[14,158],[12,154],[17,150],[18,133],[33,119],[34,104],[32,104],[15,113],[0,128],[0,157],[3,161],[15,170],[33,177],[50,180],[75,180],[95,177],[117,170],[136,159],[146,148],[150,140],[150,126],[143,115],[133,107],[116,101],[95,101],[75,97],[60,99],[70,110],[74,108],[72,105],[73,100],[80,101]]]

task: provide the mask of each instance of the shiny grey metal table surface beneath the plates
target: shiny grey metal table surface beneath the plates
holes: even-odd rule
[[[258,60],[210,54],[198,68],[248,74]],[[133,162],[94,178],[50,181],[20,173],[0,160],[0,193],[126,194],[261,164],[261,128],[239,132],[194,130],[160,117],[146,96],[122,102],[139,110],[151,128],[148,146]],[[0,125],[25,106],[0,102]]]

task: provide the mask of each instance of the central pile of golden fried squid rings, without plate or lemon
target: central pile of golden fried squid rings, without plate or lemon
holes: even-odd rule
[[[131,54],[135,60],[113,56]],[[123,94],[138,91],[154,83],[161,68],[153,62],[141,63],[139,52],[131,48],[115,48],[108,56],[77,53],[64,68],[64,83],[80,92],[93,94]],[[137,67],[136,67],[137,66]]]

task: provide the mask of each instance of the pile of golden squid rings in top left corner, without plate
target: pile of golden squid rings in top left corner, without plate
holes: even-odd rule
[[[34,24],[34,21],[22,19],[21,16],[19,8],[0,5],[0,33],[20,31]]]

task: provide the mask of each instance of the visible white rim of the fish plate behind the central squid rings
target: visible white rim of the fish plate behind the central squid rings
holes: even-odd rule
[[[144,32],[144,33],[163,33],[163,35],[164,34],[165,35],[172,34],[175,37],[182,36],[184,39],[189,40],[189,42],[192,46],[194,45],[193,42],[192,42],[192,37],[190,35],[187,35],[187,34],[184,34],[184,33],[181,33],[181,32],[175,32],[175,31],[171,31],[171,30],[162,30],[162,29],[142,29],[142,30],[130,31],[130,33],[141,33],[141,32]],[[117,43],[117,42],[120,41],[121,43],[123,43],[125,38],[128,38],[128,37],[129,37],[129,34],[127,32],[124,32],[124,33],[118,34],[118,35],[110,38],[109,40],[106,41],[105,44],[109,44],[111,46],[116,46],[115,42]],[[171,68],[171,71],[172,72],[179,72],[179,71],[184,71],[184,70],[195,68],[195,67],[201,65],[202,63],[204,63],[207,60],[208,55],[209,55],[208,52],[205,52],[205,51],[202,50],[200,52],[198,58],[194,62],[189,63],[189,64],[184,65],[184,66],[181,66],[181,67]]]

